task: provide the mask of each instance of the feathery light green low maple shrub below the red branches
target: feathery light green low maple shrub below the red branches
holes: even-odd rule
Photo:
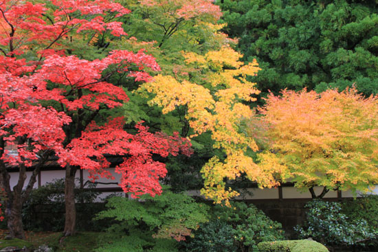
[[[113,223],[107,230],[111,240],[105,240],[96,252],[177,251],[179,240],[185,240],[200,223],[208,221],[207,212],[207,205],[168,190],[154,198],[110,198],[107,210],[96,219]]]

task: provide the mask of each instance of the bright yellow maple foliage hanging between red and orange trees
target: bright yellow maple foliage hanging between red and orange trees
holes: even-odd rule
[[[194,130],[191,137],[211,132],[214,148],[225,153],[225,157],[212,157],[202,168],[202,194],[227,205],[238,192],[227,187],[226,181],[241,174],[262,186],[276,185],[274,172],[260,169],[246,154],[247,150],[258,150],[258,146],[253,137],[241,130],[241,122],[254,117],[252,109],[243,102],[254,101],[252,95],[259,93],[255,84],[247,80],[247,76],[256,75],[260,69],[256,60],[244,65],[239,60],[242,55],[228,46],[204,55],[183,52],[183,56],[188,69],[192,69],[192,80],[158,75],[140,90],[155,93],[150,104],[162,106],[163,113],[186,106],[186,119]]]

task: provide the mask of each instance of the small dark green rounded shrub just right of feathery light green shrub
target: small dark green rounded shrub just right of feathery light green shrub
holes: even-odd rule
[[[194,237],[184,244],[190,252],[234,252],[234,229],[221,220],[210,220],[194,231]]]

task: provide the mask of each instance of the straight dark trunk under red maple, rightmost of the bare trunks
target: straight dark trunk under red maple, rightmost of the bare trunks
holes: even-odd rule
[[[64,236],[73,235],[76,230],[76,206],[75,206],[75,174],[76,168],[67,165],[65,170],[65,229]]]

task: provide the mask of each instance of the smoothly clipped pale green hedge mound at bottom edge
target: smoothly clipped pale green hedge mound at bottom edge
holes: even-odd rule
[[[314,240],[260,242],[257,247],[260,252],[329,252],[323,244]]]

